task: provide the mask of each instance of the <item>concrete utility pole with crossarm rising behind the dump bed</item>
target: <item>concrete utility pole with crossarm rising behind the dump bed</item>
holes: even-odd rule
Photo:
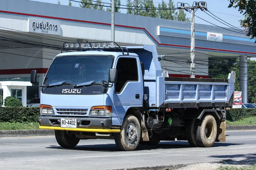
[[[195,3],[195,5],[194,5]],[[190,78],[195,78],[195,11],[199,8],[204,11],[207,10],[207,4],[204,1],[194,2],[192,6],[189,6],[188,3],[180,3],[179,9],[191,9],[191,43],[190,43]],[[200,5],[201,3],[201,5]],[[188,6],[185,6],[188,5]],[[178,6],[178,4],[177,4]]]

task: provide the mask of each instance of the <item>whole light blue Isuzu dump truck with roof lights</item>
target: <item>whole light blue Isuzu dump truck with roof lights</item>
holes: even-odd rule
[[[64,43],[41,85],[40,129],[61,147],[81,139],[114,139],[120,150],[186,140],[225,142],[235,73],[227,79],[163,77],[155,46]],[[37,71],[31,72],[31,83]]]

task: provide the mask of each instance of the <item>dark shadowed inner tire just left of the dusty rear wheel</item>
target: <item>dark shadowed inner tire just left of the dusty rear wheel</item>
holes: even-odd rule
[[[198,126],[198,119],[189,120],[186,124],[186,136],[190,146],[198,147],[196,141],[196,127]]]

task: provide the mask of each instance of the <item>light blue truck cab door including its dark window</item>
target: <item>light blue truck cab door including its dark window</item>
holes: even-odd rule
[[[118,57],[114,83],[112,125],[122,125],[126,111],[142,107],[143,77],[138,57]]]

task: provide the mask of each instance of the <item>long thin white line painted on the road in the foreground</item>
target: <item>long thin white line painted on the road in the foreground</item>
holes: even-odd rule
[[[147,154],[156,154],[160,152],[151,152],[151,153],[132,153],[132,154],[121,154],[121,155],[102,155],[102,156],[79,156],[79,157],[67,157],[67,158],[48,158],[44,160],[56,160],[56,159],[79,159],[79,158],[100,158],[100,157],[111,157],[111,156],[133,156],[133,155],[147,155]],[[16,160],[12,162],[20,162],[20,161],[42,161],[42,159],[30,159],[30,160]],[[11,162],[11,161],[0,161],[2,162]]]

